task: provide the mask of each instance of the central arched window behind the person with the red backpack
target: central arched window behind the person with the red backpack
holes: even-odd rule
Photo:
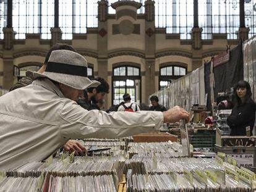
[[[129,93],[132,102],[140,102],[140,69],[132,66],[122,66],[113,69],[113,96],[114,105],[123,101],[124,93]]]

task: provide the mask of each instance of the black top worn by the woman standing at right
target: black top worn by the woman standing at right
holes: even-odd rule
[[[255,121],[255,102],[249,99],[240,106],[235,106],[228,117],[227,122],[231,128],[230,135],[246,135],[245,127],[250,126],[250,135],[254,128]]]

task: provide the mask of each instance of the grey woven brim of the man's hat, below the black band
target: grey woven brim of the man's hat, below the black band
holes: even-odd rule
[[[85,90],[90,87],[97,87],[100,85],[99,81],[90,80],[88,77],[81,77],[77,75],[68,75],[64,73],[54,73],[54,72],[34,72],[34,77],[46,77],[50,80],[57,81],[64,85],[70,86],[76,90]]]

